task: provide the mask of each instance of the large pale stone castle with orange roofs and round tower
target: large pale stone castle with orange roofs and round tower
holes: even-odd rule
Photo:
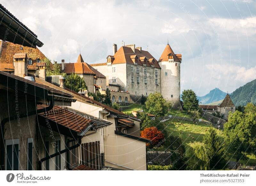
[[[174,108],[179,108],[180,63],[181,54],[175,54],[169,43],[159,60],[135,44],[121,46],[119,50],[113,44],[113,55],[108,55],[107,62],[91,66],[106,76],[107,86],[116,85],[119,90],[128,91],[134,102],[142,95],[160,92]]]

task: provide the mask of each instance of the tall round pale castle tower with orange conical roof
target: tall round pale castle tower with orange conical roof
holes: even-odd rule
[[[181,54],[174,54],[167,43],[161,57],[158,60],[161,67],[161,94],[171,101],[173,107],[178,109],[180,105],[180,64]]]

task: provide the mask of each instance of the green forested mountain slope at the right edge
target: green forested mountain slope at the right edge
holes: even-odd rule
[[[248,102],[256,104],[256,79],[236,89],[230,97],[236,106],[244,106]]]

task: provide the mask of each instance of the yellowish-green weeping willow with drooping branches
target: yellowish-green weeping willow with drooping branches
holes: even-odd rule
[[[209,147],[200,142],[189,143],[189,149],[187,156],[189,159],[189,165],[195,170],[208,170],[210,162],[210,150]]]

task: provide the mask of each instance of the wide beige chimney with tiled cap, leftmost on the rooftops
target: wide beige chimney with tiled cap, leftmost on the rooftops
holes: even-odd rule
[[[14,75],[25,77],[28,75],[27,62],[28,57],[26,53],[16,53],[13,56]]]

